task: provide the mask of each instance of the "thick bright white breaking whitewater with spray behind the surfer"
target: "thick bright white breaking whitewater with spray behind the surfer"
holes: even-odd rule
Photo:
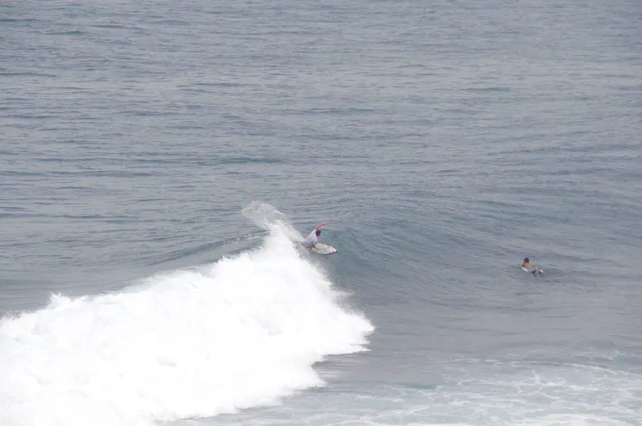
[[[278,404],[374,327],[273,207],[260,246],[0,322],[0,425],[149,426]]]

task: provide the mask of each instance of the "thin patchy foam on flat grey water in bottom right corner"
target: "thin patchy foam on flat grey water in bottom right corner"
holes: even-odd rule
[[[635,369],[611,367],[514,358],[443,363],[426,359],[417,377],[400,374],[395,382],[373,381],[367,386],[337,384],[331,392],[306,393],[265,409],[260,416],[241,412],[232,418],[214,418],[208,425],[642,424],[642,375]],[[176,426],[191,425],[179,422]]]

